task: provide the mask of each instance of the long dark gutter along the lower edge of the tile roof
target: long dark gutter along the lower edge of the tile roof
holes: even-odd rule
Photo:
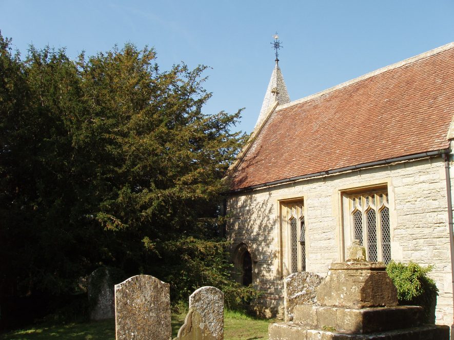
[[[272,182],[267,182],[267,183],[262,183],[262,184],[257,184],[257,185],[251,185],[251,186],[244,187],[244,188],[239,188],[239,189],[233,189],[233,190],[229,190],[226,194],[238,193],[238,192],[243,192],[243,191],[248,191],[248,190],[254,190],[254,189],[259,189],[259,188],[263,188],[263,187],[271,186],[271,185],[290,183],[290,182],[299,181],[299,180],[302,180],[302,179],[307,179],[307,178],[312,178],[312,177],[320,177],[320,176],[338,174],[338,173],[342,173],[342,172],[345,172],[345,171],[352,171],[352,170],[362,169],[362,168],[370,167],[370,166],[386,165],[386,164],[391,164],[391,163],[396,163],[396,162],[401,162],[401,161],[406,161],[406,160],[445,155],[445,154],[449,154],[449,152],[450,152],[450,149],[446,148],[446,149],[442,149],[442,150],[429,151],[429,152],[424,152],[424,153],[419,153],[419,154],[414,154],[414,155],[409,155],[409,156],[389,158],[389,159],[384,159],[384,160],[375,161],[375,162],[362,163],[362,164],[358,164],[358,165],[351,165],[351,166],[341,167],[341,168],[338,168],[338,169],[322,171],[322,172],[319,172],[319,173],[313,173],[313,174],[302,175],[302,176],[295,176],[295,177],[290,177],[290,178],[286,178],[286,179],[281,179],[281,180],[278,180],[278,181],[272,181]]]

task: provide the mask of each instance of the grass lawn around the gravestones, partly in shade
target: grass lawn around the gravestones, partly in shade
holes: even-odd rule
[[[184,314],[172,314],[172,337],[183,325]],[[225,340],[268,339],[268,325],[271,320],[259,320],[243,313],[226,311],[224,315]],[[44,324],[23,330],[0,334],[0,340],[115,340],[113,320],[63,325]]]

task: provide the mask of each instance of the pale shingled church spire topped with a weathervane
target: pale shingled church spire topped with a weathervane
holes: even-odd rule
[[[282,75],[281,69],[279,67],[279,49],[282,48],[281,41],[279,41],[278,33],[274,36],[274,41],[271,42],[273,48],[275,50],[275,65],[274,70],[271,73],[271,79],[268,84],[268,88],[266,89],[265,98],[263,99],[262,109],[260,110],[259,119],[255,123],[255,128],[260,126],[262,121],[265,119],[266,113],[270,105],[272,105],[275,101],[278,101],[279,104],[285,104],[290,101],[290,97],[288,96],[287,87],[285,85],[284,76]]]

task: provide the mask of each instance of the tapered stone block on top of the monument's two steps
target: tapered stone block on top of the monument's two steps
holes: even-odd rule
[[[344,308],[397,306],[397,290],[385,269],[383,262],[332,263],[317,302]]]

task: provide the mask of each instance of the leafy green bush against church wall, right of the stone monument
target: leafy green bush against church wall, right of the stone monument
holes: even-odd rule
[[[435,304],[438,288],[427,275],[433,266],[422,267],[417,263],[408,264],[391,261],[386,272],[397,288],[400,305],[416,305],[424,308],[427,323],[435,323]]]

